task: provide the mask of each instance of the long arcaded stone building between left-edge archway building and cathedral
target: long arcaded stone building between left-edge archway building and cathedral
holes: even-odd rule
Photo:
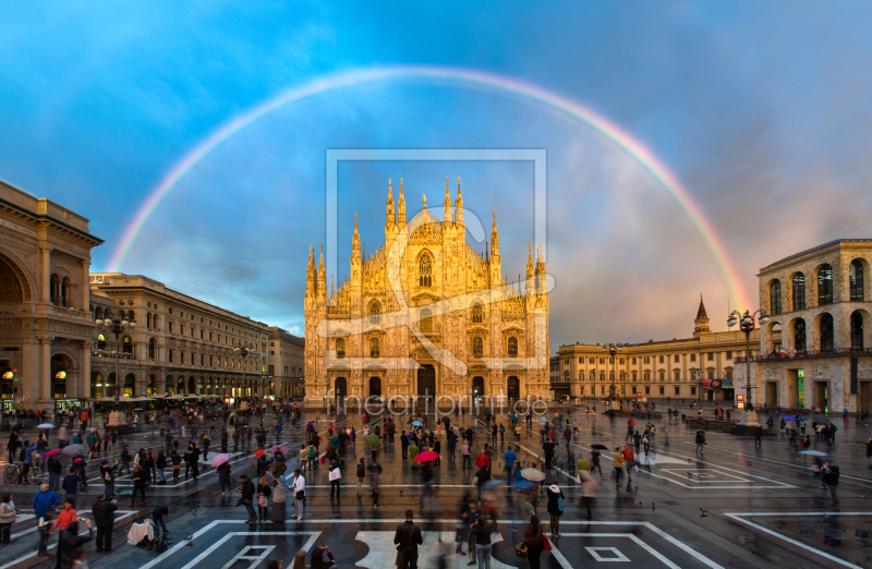
[[[266,324],[142,275],[94,273],[90,289],[92,318],[136,322],[118,338],[122,397],[278,395],[269,389]],[[85,394],[109,401],[114,397],[117,338],[98,325],[92,341]],[[240,347],[253,353],[243,359],[234,351]]]

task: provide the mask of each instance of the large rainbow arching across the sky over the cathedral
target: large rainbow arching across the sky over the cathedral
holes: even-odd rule
[[[160,180],[160,183],[148,194],[113,250],[108,270],[119,270],[121,264],[124,262],[124,258],[145,227],[145,223],[148,221],[148,218],[155,213],[160,202],[175,187],[175,184],[178,184],[201,160],[206,158],[209,153],[221,143],[232,137],[237,132],[245,129],[269,112],[286,105],[305,99],[306,97],[377,81],[415,78],[431,82],[448,82],[452,85],[460,84],[461,86],[467,85],[499,93],[508,93],[521,100],[534,101],[546,109],[567,116],[601,135],[606,142],[635,160],[639,166],[641,166],[642,169],[676,201],[711,250],[720,273],[727,280],[730,295],[737,301],[736,305],[752,306],[744,288],[741,286],[741,279],[738,277],[736,266],[730,259],[724,242],[715,232],[711,221],[703,215],[690,193],[681,185],[681,182],[679,182],[675,174],[669,171],[654,153],[630,133],[588,107],[537,85],[482,71],[428,65],[378,66],[324,75],[303,86],[286,90],[226,122],[177,162],[172,169],[167,172],[164,179]]]

